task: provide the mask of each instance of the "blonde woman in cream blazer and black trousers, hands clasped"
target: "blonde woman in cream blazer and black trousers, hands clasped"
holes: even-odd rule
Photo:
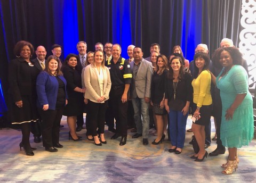
[[[103,51],[95,51],[94,59],[84,70],[84,85],[86,87],[84,98],[88,101],[88,114],[90,115],[90,131],[94,139],[94,144],[101,146],[107,144],[104,137],[105,112],[107,100],[111,88],[110,74],[104,64]],[[100,139],[97,134],[99,128]],[[101,144],[102,143],[102,144]]]

